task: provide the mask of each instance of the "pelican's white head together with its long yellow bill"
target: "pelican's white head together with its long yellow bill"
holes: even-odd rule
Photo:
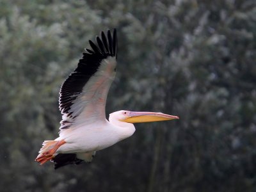
[[[167,115],[164,113],[145,112],[145,111],[116,111],[109,115],[109,120],[118,120],[131,124],[144,122],[159,122],[166,120],[179,119],[179,116]]]

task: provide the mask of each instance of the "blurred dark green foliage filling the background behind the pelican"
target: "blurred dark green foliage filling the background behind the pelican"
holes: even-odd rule
[[[106,112],[162,111],[93,163],[34,159],[88,40],[118,30]],[[256,191],[256,2],[0,2],[1,191]]]

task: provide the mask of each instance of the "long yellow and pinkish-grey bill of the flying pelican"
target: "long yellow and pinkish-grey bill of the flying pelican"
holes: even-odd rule
[[[144,122],[159,122],[166,120],[179,119],[179,116],[167,115],[164,113],[156,112],[138,112],[138,111],[129,111],[127,118],[123,121],[127,123],[144,123]]]

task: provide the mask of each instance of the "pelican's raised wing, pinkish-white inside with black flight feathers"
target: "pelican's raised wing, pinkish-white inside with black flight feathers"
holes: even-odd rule
[[[96,36],[97,43],[89,40],[77,68],[64,81],[60,90],[60,111],[63,114],[60,129],[86,120],[104,120],[106,99],[115,78],[117,38],[108,30]]]

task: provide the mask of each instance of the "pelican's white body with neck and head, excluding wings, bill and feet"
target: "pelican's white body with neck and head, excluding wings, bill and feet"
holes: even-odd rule
[[[93,152],[129,138],[134,133],[135,127],[116,118],[122,113],[124,111],[112,113],[109,122],[108,120],[98,121],[97,124],[84,122],[61,131],[60,137],[56,140],[65,140],[66,143],[58,148],[56,154]]]

